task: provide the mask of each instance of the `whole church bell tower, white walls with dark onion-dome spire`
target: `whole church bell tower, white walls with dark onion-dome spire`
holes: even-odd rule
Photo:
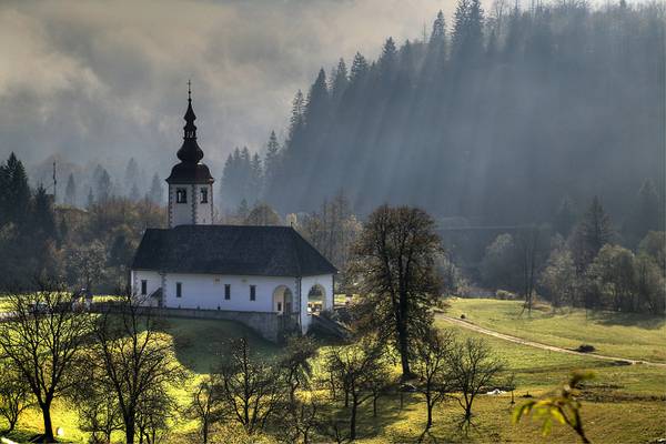
[[[169,183],[169,228],[210,225],[213,223],[213,182],[209,168],[201,163],[203,151],[196,143],[192,89],[188,82],[183,145],[178,150],[180,163],[171,169]]]

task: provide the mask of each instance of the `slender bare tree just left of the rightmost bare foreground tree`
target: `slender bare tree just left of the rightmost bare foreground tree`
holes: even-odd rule
[[[433,425],[433,408],[451,393],[453,377],[450,370],[450,359],[455,345],[451,331],[431,330],[414,346],[414,370],[421,384],[416,386],[425,398],[427,421],[424,434]]]

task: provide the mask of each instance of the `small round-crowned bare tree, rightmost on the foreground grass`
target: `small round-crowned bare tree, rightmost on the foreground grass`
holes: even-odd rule
[[[493,355],[483,340],[471,337],[453,347],[448,365],[453,377],[453,390],[460,393],[456,400],[465,411],[461,425],[468,427],[472,423],[474,400],[497,382],[497,376],[504,371],[505,365]]]

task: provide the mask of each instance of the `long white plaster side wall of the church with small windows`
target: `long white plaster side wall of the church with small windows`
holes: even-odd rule
[[[182,297],[175,296],[175,284],[182,283]],[[231,299],[224,299],[224,285],[231,285]],[[256,299],[250,301],[250,285],[256,285]],[[285,285],[295,293],[294,278],[225,276],[215,274],[167,273],[164,306],[242,312],[274,312],[273,291]]]

